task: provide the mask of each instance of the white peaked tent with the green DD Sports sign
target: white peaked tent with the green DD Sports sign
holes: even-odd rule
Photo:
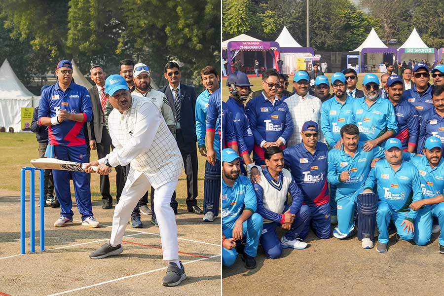
[[[422,38],[419,36],[416,28],[413,28],[410,36],[407,40],[398,48],[398,61],[401,63],[406,60],[408,63],[408,59],[414,60],[417,59],[418,62],[420,60],[426,59],[432,64],[437,60],[437,51],[435,48],[430,48],[427,44],[424,43]]]

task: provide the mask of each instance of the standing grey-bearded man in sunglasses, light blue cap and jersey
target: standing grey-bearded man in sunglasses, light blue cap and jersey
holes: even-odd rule
[[[364,151],[370,151],[398,131],[395,110],[389,100],[378,95],[379,80],[375,74],[365,74],[364,98],[353,102],[351,123],[359,127]]]

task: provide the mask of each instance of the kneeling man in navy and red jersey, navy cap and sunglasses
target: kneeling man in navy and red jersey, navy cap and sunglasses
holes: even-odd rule
[[[318,76],[319,78],[319,76]],[[289,169],[297,186],[302,191],[304,204],[310,211],[309,221],[299,233],[304,240],[308,226],[322,239],[330,238],[330,203],[327,184],[327,145],[318,142],[319,127],[314,121],[302,126],[302,142],[284,150],[284,167]]]

